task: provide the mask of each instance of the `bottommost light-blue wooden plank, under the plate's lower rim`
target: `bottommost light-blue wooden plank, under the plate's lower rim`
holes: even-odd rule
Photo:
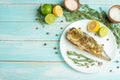
[[[120,68],[117,66],[120,63],[111,64],[99,73],[85,74],[73,70],[64,62],[0,62],[0,80],[120,80]]]

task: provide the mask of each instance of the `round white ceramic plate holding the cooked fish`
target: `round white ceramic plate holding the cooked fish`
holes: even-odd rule
[[[78,49],[75,45],[71,44],[67,39],[66,39],[66,32],[69,31],[70,28],[78,28],[80,27],[82,29],[82,31],[84,31],[85,33],[89,34],[90,36],[92,36],[99,44],[104,44],[103,48],[105,50],[105,52],[107,53],[107,55],[113,59],[113,57],[115,56],[115,52],[116,52],[116,48],[117,48],[117,44],[116,44],[116,40],[115,37],[113,35],[113,33],[108,29],[108,35],[106,37],[99,37],[98,35],[95,35],[95,33],[90,33],[87,31],[87,24],[90,22],[91,20],[80,20],[80,21],[76,21],[72,24],[70,24],[63,32],[61,39],[60,39],[60,51],[61,54],[64,58],[64,60],[75,70],[81,71],[81,72],[85,72],[85,73],[95,73],[100,71],[102,68],[107,67],[107,65],[111,62],[111,61],[105,61],[103,59],[97,58],[85,51],[82,51],[80,49]],[[100,23],[101,26],[104,26],[103,24]],[[67,51],[75,51],[77,53],[80,54],[84,54],[85,56],[92,58],[94,60],[103,62],[102,66],[91,66],[89,68],[87,68],[86,66],[77,66],[76,64],[73,63],[72,60],[70,60],[68,58],[67,55]]]

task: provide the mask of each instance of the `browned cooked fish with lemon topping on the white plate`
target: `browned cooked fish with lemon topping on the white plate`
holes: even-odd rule
[[[91,53],[99,58],[110,61],[111,59],[104,56],[103,47],[95,41],[90,35],[83,32],[80,28],[71,28],[66,34],[67,40],[76,45],[79,49]]]

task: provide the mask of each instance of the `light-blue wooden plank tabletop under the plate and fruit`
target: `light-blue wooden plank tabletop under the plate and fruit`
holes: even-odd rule
[[[70,22],[61,17],[43,28],[35,20],[40,4],[62,2],[0,0],[0,80],[120,80],[120,49],[112,63],[99,73],[81,73],[65,63],[59,41]],[[101,7],[107,13],[112,5],[120,5],[120,0],[80,2],[96,10]]]

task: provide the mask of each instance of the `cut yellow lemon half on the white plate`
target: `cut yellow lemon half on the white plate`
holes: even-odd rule
[[[100,29],[100,23],[97,20],[92,20],[90,23],[88,23],[87,30],[89,32],[98,32]]]

